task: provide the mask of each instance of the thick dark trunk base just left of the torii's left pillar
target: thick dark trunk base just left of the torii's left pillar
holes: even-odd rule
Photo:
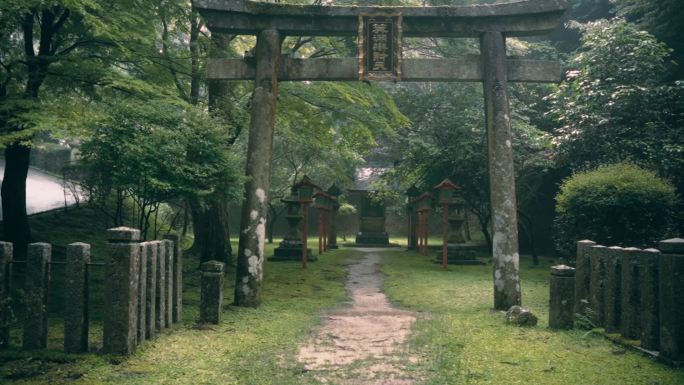
[[[203,204],[196,198],[190,200],[192,229],[195,234],[193,249],[200,264],[220,261],[232,265],[233,249],[228,232],[228,204],[223,197],[209,197]]]

